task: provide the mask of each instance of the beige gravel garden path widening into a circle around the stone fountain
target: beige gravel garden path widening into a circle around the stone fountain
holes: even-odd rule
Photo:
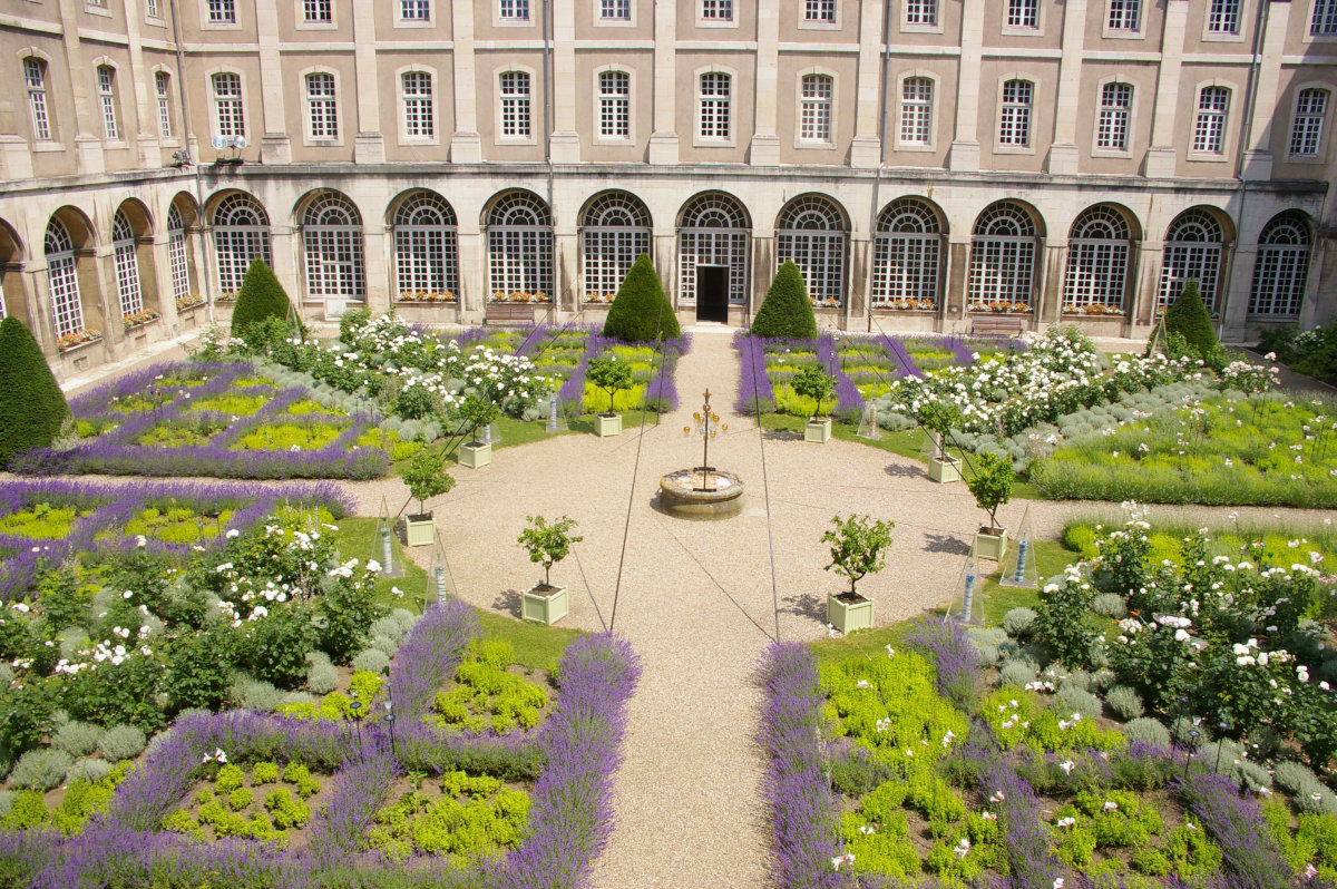
[[[516,544],[525,517],[572,516],[584,540],[552,574],[572,594],[564,626],[603,631],[611,622],[643,660],[614,785],[614,830],[592,876],[596,889],[769,885],[754,671],[777,627],[789,640],[828,632],[826,594],[842,582],[822,569],[829,560],[822,532],[836,513],[896,521],[888,569],[860,584],[876,602],[877,622],[890,623],[952,598],[981,517],[964,485],[937,485],[913,460],[840,440],[816,445],[797,433],[758,434],[750,417],[726,410],[738,384],[733,330],[691,333],[691,352],[677,368],[678,412],[658,425],[628,426],[620,437],[570,434],[496,451],[483,469],[455,469],[456,488],[435,504],[459,598],[511,616],[540,571]],[[693,425],[707,388],[729,422],[711,442],[711,463],[742,477],[747,500],[731,519],[683,521],[659,512],[655,496],[662,475],[699,463],[699,437],[683,428]],[[392,511],[408,500],[398,479],[342,487],[364,516],[378,515],[382,499]],[[1003,507],[1001,523],[1016,525],[1025,507],[1020,500]],[[1032,503],[1035,533],[1052,539],[1067,520],[1102,507]],[[1316,515],[1151,509],[1157,521],[1193,523],[1225,521],[1230,512],[1259,520]],[[427,563],[431,549],[412,556]]]

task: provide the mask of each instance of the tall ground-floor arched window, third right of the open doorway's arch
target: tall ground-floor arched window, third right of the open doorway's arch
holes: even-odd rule
[[[985,209],[971,238],[971,307],[992,302],[1029,306],[1038,249],[1035,221],[1025,207],[1000,201]]]

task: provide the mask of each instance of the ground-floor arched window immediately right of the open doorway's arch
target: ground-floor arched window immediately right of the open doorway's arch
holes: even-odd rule
[[[794,198],[775,223],[775,266],[786,259],[804,273],[808,298],[820,306],[845,302],[845,214],[829,198]]]

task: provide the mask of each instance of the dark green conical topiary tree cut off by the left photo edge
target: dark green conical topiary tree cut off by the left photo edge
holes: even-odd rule
[[[32,333],[17,318],[0,321],[0,467],[49,445],[68,416],[66,396]]]

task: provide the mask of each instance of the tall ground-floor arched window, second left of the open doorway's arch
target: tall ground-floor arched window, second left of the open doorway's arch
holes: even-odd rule
[[[537,195],[508,191],[488,211],[488,289],[552,299],[552,214]]]

